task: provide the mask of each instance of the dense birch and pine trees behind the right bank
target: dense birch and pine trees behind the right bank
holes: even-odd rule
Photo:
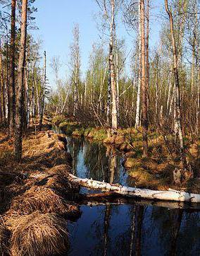
[[[175,134],[185,162],[184,135],[199,136],[199,1],[163,1],[163,10],[156,13],[163,16],[160,36],[150,50],[154,1],[96,0],[96,4],[103,39],[93,45],[81,79],[80,32],[75,26],[69,78],[56,80],[49,109],[113,130],[142,125],[144,156],[149,128]],[[121,22],[135,35],[131,53],[117,36]]]

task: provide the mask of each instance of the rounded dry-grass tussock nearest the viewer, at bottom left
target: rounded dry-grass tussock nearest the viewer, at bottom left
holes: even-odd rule
[[[13,256],[56,255],[68,249],[67,224],[56,214],[22,216],[11,237]]]

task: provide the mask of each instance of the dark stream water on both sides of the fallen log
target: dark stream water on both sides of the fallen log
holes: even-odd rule
[[[75,175],[133,185],[113,149],[68,138],[68,150]],[[200,255],[200,212],[175,205],[82,205],[80,219],[68,226],[68,255]]]

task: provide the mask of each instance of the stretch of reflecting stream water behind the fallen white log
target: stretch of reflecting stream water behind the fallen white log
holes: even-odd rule
[[[68,150],[73,156],[73,173],[81,178],[128,185],[123,168],[123,156],[111,147],[84,139],[68,138]]]

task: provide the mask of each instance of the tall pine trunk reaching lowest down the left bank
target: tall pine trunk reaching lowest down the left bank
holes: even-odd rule
[[[16,95],[16,115],[15,115],[15,158],[20,161],[22,158],[22,136],[23,136],[23,90],[25,73],[25,49],[27,37],[27,0],[22,2],[21,14],[21,35],[20,53],[18,60],[18,86]]]

